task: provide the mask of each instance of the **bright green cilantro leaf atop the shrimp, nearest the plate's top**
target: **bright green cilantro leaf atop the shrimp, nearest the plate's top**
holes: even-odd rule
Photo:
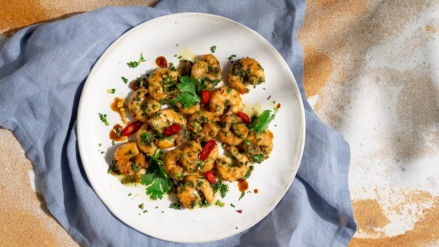
[[[197,80],[194,76],[189,77],[188,75],[180,78],[180,83],[177,88],[180,89],[180,94],[172,102],[180,101],[183,108],[193,107],[195,103],[201,102],[201,98],[197,94],[195,85]],[[171,104],[171,103],[170,103]]]

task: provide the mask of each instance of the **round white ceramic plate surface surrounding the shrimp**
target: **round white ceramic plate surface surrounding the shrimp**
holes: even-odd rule
[[[121,76],[130,82],[145,71],[157,68],[155,58],[158,56],[178,64],[174,54],[192,58],[188,50],[197,55],[209,54],[210,47],[214,45],[217,47],[214,55],[226,77],[230,66],[227,57],[232,54],[237,55],[235,59],[255,58],[263,66],[266,83],[256,89],[249,86],[250,93],[245,94],[243,99],[250,103],[261,102],[264,110],[273,108],[270,107],[273,100],[281,103],[275,120],[269,126],[274,134],[274,148],[268,160],[255,164],[248,179],[248,191],[251,193],[246,193],[241,200],[238,201],[241,192],[237,183],[233,183],[229,185],[230,191],[225,198],[216,195],[216,199],[225,203],[224,207],[212,205],[207,209],[175,210],[169,208],[176,201],[175,195],[150,200],[144,186],[124,186],[116,177],[107,174],[114,151],[122,144],[112,146],[108,138],[112,126],[121,123],[119,115],[111,111],[109,105],[115,96],[126,97],[131,93],[129,84],[124,84]],[[140,52],[148,61],[140,63],[137,68],[129,68],[126,62],[139,60]],[[107,89],[113,88],[116,93],[108,94]],[[267,100],[270,95],[270,100]],[[98,113],[107,114],[110,125],[105,126]],[[255,225],[276,206],[291,185],[302,158],[305,114],[299,89],[288,65],[262,36],[227,18],[180,13],[145,21],[107,48],[86,80],[79,103],[77,130],[79,152],[90,184],[117,218],[158,239],[197,243],[240,233]],[[101,147],[99,143],[102,143]],[[105,153],[101,154],[101,151]],[[258,189],[259,193],[253,193],[254,189]],[[130,193],[131,196],[128,196]],[[137,193],[139,195],[134,197]],[[138,208],[141,203],[144,203],[147,213]],[[236,210],[242,210],[242,213]],[[205,227],[210,226],[209,222],[215,222],[215,227]],[[176,227],[178,225],[193,230],[181,231]]]

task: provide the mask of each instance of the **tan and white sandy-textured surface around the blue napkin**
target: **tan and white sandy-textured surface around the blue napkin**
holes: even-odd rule
[[[154,0],[0,1],[0,47],[25,26]],[[351,147],[350,247],[439,246],[438,0],[309,0],[299,39],[310,104]],[[273,30],[276,31],[276,30]],[[0,128],[0,246],[76,246],[32,163]]]

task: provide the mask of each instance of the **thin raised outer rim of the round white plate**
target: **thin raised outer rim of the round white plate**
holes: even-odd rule
[[[215,237],[215,238],[211,238],[211,239],[209,239],[207,241],[205,241],[205,240],[203,240],[203,241],[194,240],[194,241],[191,241],[191,242],[182,242],[182,241],[179,241],[179,240],[177,240],[177,239],[175,239],[173,237],[164,238],[165,235],[158,235],[158,234],[156,234],[154,232],[151,232],[151,231],[149,231],[147,229],[140,229],[136,225],[130,224],[130,222],[128,222],[128,220],[123,218],[121,214],[117,213],[117,211],[115,211],[112,208],[111,203],[106,200],[104,195],[102,195],[100,192],[98,192],[97,190],[94,189],[95,188],[94,185],[95,185],[96,181],[94,181],[93,179],[90,179],[90,175],[92,174],[92,171],[89,170],[90,166],[84,165],[84,161],[83,161],[83,158],[82,158],[83,156],[85,157],[86,155],[85,155],[85,151],[84,151],[85,147],[83,147],[83,144],[81,144],[81,143],[83,143],[83,141],[80,141],[80,140],[83,140],[83,137],[82,137],[82,134],[81,134],[81,132],[79,130],[83,129],[83,127],[81,127],[82,126],[81,125],[81,122],[82,122],[81,121],[81,112],[82,112],[82,109],[83,109],[83,101],[84,101],[83,98],[85,97],[84,96],[85,92],[87,90],[88,85],[90,84],[90,83],[88,83],[89,80],[90,80],[90,75],[93,75],[94,72],[97,69],[100,68],[99,64],[101,64],[101,62],[104,60],[104,58],[107,57],[107,55],[110,52],[112,52],[112,50],[113,50],[112,48],[114,48],[116,46],[116,44],[119,43],[119,40],[125,39],[125,37],[127,35],[129,35],[131,32],[134,32],[135,30],[144,27],[144,25],[148,25],[149,22],[158,21],[158,20],[160,20],[162,18],[173,18],[173,17],[180,18],[180,17],[185,17],[185,16],[193,17],[193,15],[197,15],[197,17],[199,17],[199,18],[210,18],[210,19],[216,19],[216,20],[219,20],[219,21],[227,21],[227,22],[229,22],[232,25],[240,26],[241,28],[246,29],[247,31],[249,31],[253,35],[255,35],[256,37],[258,37],[262,42],[265,42],[266,44],[268,44],[268,46],[273,50],[274,54],[277,54],[277,56],[281,57],[281,60],[284,63],[283,65],[286,68],[288,68],[288,72],[289,72],[289,74],[291,75],[291,77],[293,79],[291,81],[292,86],[295,87],[295,89],[297,89],[297,91],[299,92],[299,95],[297,95],[297,94],[294,95],[298,99],[297,101],[299,102],[299,131],[298,131],[299,132],[299,141],[298,141],[298,153],[299,153],[299,155],[298,155],[297,160],[293,163],[296,166],[296,168],[295,168],[295,171],[293,171],[294,176],[292,176],[291,181],[289,181],[289,186],[283,191],[283,193],[282,193],[282,195],[280,197],[278,197],[276,200],[274,200],[275,203],[273,204],[273,207],[271,207],[270,210],[268,210],[265,214],[261,214],[259,216],[259,218],[257,220],[255,220],[254,223],[252,223],[250,226],[248,226],[247,228],[244,228],[242,230],[240,229],[240,231],[235,232],[235,233],[231,233],[231,234],[229,234],[227,236]],[[175,243],[207,243],[207,242],[212,242],[212,241],[217,241],[217,240],[223,240],[223,239],[226,239],[226,238],[228,238],[230,236],[234,236],[236,234],[239,234],[239,233],[241,233],[241,232],[251,228],[252,226],[256,225],[261,220],[263,220],[263,218],[265,218],[271,211],[273,211],[273,209],[277,206],[277,204],[279,204],[279,202],[282,200],[282,198],[287,193],[288,189],[291,187],[291,184],[293,183],[293,181],[295,179],[295,176],[297,175],[297,171],[299,169],[300,162],[301,162],[302,156],[303,156],[303,151],[304,151],[304,148],[305,148],[305,136],[306,136],[305,133],[306,133],[305,108],[303,106],[303,102],[302,102],[302,97],[300,95],[299,86],[297,85],[296,79],[295,79],[293,73],[291,72],[290,67],[288,66],[287,62],[284,60],[284,57],[282,57],[282,55],[276,50],[276,48],[274,48],[273,45],[270,42],[268,42],[268,40],[266,40],[258,32],[254,31],[253,29],[250,29],[249,27],[247,27],[247,26],[245,26],[245,25],[243,25],[243,24],[241,24],[241,23],[239,23],[237,21],[231,20],[231,19],[223,17],[223,16],[215,15],[215,14],[206,14],[206,13],[197,13],[197,12],[181,12],[181,13],[165,14],[165,15],[162,15],[162,16],[159,16],[159,17],[151,18],[151,19],[149,19],[147,21],[139,23],[138,25],[136,25],[133,28],[131,28],[131,29],[127,30],[126,32],[124,32],[121,36],[119,36],[119,38],[115,39],[104,50],[104,52],[100,55],[100,57],[97,59],[97,61],[93,64],[93,67],[90,70],[89,74],[87,75],[86,81],[84,82],[84,86],[83,86],[83,89],[81,91],[81,97],[79,99],[78,111],[77,111],[77,119],[76,119],[76,140],[78,142],[79,156],[81,158],[82,166],[84,168],[84,171],[86,173],[86,176],[87,176],[87,179],[88,179],[88,181],[90,183],[91,188],[93,189],[94,193],[96,193],[97,197],[105,205],[105,207],[108,208],[108,211],[110,211],[112,213],[112,215],[114,215],[121,222],[123,222],[127,226],[137,230],[139,233],[143,233],[145,235],[154,237],[156,239],[160,239],[160,240],[164,240],[164,241],[171,241],[171,242],[175,242]]]

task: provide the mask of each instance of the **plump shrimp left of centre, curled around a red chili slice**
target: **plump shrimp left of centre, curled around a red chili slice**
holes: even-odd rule
[[[180,131],[170,136],[163,136],[155,142],[160,148],[178,146],[184,143],[189,137],[189,132],[187,132],[186,128],[186,119],[173,109],[165,109],[157,112],[148,122],[159,134],[163,134],[163,131],[171,125],[177,124],[181,126]]]

